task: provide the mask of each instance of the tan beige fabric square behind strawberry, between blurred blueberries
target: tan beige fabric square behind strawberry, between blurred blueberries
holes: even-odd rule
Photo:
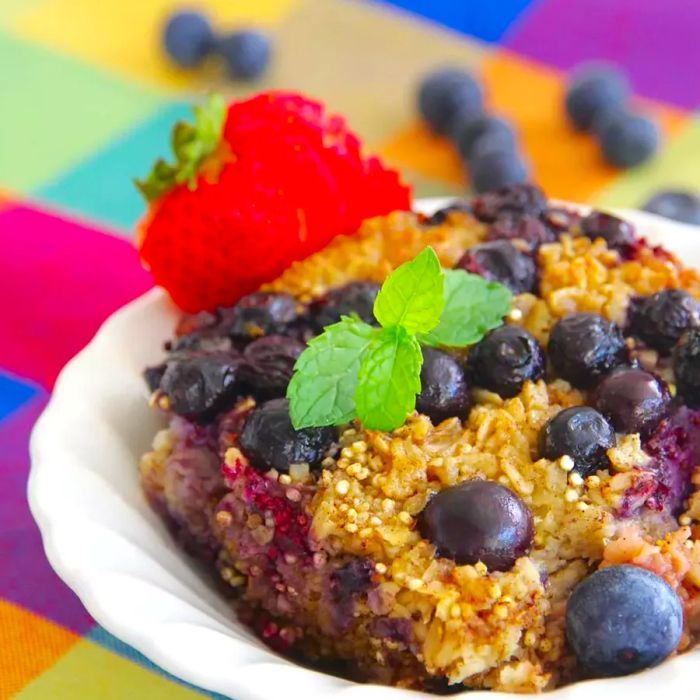
[[[274,50],[255,88],[322,99],[372,150],[413,120],[422,75],[447,63],[478,70],[487,51],[474,39],[357,0],[299,0],[278,28]]]

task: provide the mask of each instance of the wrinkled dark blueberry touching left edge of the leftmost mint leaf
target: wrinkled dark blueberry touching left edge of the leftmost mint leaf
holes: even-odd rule
[[[243,351],[241,378],[256,398],[284,396],[304,343],[281,335],[254,340]]]

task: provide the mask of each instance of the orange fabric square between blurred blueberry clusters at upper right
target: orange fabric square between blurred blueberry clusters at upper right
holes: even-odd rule
[[[562,74],[504,50],[488,56],[482,71],[491,109],[513,121],[533,180],[550,197],[586,202],[622,174],[603,161],[590,134],[576,132],[567,122]],[[677,133],[688,119],[655,103],[642,107],[659,119],[666,135]]]

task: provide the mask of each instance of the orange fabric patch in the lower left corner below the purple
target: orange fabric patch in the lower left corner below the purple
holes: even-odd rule
[[[19,692],[79,640],[77,634],[0,600],[0,698]]]

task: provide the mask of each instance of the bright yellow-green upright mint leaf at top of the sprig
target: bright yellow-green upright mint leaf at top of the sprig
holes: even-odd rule
[[[440,261],[432,248],[426,248],[387,277],[374,302],[374,315],[384,328],[402,326],[408,333],[427,333],[440,321],[443,286]]]

